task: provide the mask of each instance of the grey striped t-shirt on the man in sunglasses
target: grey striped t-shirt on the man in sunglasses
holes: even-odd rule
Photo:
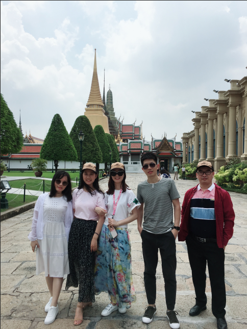
[[[174,180],[161,179],[158,183],[144,181],[138,185],[137,199],[144,203],[142,227],[154,234],[163,234],[173,225],[171,200],[180,198]]]

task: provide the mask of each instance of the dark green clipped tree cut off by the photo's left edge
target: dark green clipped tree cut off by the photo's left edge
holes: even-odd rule
[[[19,153],[23,137],[15,122],[13,113],[1,94],[1,155]]]

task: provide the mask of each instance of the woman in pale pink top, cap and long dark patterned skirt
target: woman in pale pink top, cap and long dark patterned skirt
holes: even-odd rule
[[[106,209],[104,193],[98,185],[96,166],[86,163],[83,166],[80,186],[73,191],[72,222],[68,240],[68,260],[70,274],[67,276],[66,290],[79,286],[79,297],[74,325],[83,321],[83,308],[91,306],[94,296],[94,265],[97,238],[105,220],[97,215],[96,207]]]

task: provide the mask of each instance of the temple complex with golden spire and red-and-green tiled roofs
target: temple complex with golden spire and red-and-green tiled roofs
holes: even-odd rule
[[[175,163],[181,164],[183,155],[181,142],[176,142],[175,138],[167,139],[166,136],[161,139],[152,137],[152,141],[146,141],[142,136],[142,123],[136,125],[135,121],[132,124],[124,124],[124,118],[121,121],[120,117],[117,119],[110,86],[105,99],[105,71],[103,98],[101,99],[97,78],[96,51],[91,91],[84,114],[88,117],[92,128],[96,124],[101,124],[105,133],[110,133],[114,136],[119,150],[120,161],[125,164],[127,172],[142,172],[140,157],[148,151],[154,152],[161,166],[164,166],[170,172]]]

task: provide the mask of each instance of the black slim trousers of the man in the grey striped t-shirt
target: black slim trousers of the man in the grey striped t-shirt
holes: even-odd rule
[[[167,310],[174,310],[176,302],[176,243],[171,232],[153,234],[142,230],[142,253],[144,259],[144,285],[147,302],[155,304],[156,300],[156,268],[158,265],[158,249],[162,261],[162,272],[165,282],[165,299]]]

